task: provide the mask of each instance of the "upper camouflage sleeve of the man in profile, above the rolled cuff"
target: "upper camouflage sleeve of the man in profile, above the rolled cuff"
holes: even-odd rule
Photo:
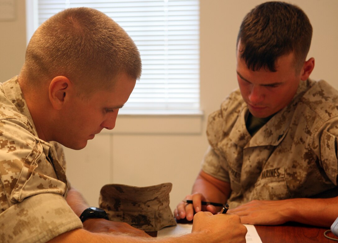
[[[67,191],[48,157],[49,144],[24,127],[16,119],[0,120],[0,212],[32,195]]]

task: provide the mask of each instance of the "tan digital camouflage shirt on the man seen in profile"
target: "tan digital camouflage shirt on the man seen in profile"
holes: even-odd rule
[[[61,145],[38,138],[18,77],[0,84],[0,242],[46,242],[81,228]]]

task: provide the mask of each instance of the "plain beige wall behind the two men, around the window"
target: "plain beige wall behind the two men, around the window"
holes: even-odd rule
[[[20,2],[20,0],[19,0]],[[207,114],[237,87],[235,45],[244,15],[260,0],[200,1],[200,86],[204,116],[121,116],[113,131],[102,131],[81,151],[67,149],[68,177],[92,206],[107,183],[149,186],[172,182],[171,208],[190,192],[208,144]],[[314,79],[338,89],[337,0],[293,0],[313,25],[309,57],[315,58]],[[17,74],[23,62],[24,6],[20,18],[0,22],[1,80]],[[14,31],[15,30],[15,31]],[[4,35],[13,37],[7,40]],[[19,44],[16,44],[16,43]],[[14,56],[12,56],[14,54]]]

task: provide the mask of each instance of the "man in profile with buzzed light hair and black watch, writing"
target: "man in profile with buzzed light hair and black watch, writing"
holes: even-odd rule
[[[140,75],[134,42],[98,10],[66,9],[35,31],[19,76],[0,86],[1,242],[153,242],[89,208],[58,144],[79,150],[113,129]],[[192,234],[159,242],[245,242],[245,233],[238,216],[203,212]]]

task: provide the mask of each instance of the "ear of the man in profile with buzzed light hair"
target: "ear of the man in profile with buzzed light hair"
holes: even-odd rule
[[[49,84],[49,100],[56,110],[60,110],[69,98],[72,83],[65,76],[57,76]]]

